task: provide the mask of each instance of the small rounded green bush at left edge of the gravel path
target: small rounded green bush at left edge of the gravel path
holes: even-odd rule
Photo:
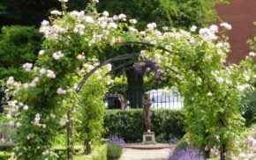
[[[123,148],[115,142],[110,142],[107,145],[108,160],[118,159],[123,154]]]

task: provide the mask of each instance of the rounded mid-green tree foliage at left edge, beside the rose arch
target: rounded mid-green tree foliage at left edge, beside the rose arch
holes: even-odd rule
[[[0,79],[14,76],[26,82],[28,74],[21,69],[25,62],[35,62],[42,36],[32,26],[4,26],[0,35]]]

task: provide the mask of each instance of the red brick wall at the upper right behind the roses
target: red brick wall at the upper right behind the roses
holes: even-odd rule
[[[246,41],[256,36],[256,0],[230,0],[230,4],[215,6],[221,21],[232,25],[228,32],[231,53],[228,62],[239,62],[250,52]]]

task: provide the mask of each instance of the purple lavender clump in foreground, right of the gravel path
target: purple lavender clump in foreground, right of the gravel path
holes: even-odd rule
[[[204,156],[199,149],[187,147],[175,149],[168,160],[204,160]]]

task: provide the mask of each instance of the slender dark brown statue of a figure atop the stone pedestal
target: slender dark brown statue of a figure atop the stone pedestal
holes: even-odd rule
[[[144,123],[146,127],[146,131],[150,132],[150,106],[152,105],[149,95],[146,93],[143,99],[144,104]]]

